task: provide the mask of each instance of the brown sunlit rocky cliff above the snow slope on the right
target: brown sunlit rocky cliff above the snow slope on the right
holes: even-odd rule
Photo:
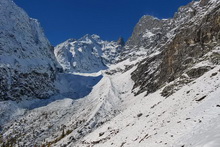
[[[203,1],[192,2],[180,8],[180,12],[176,13],[174,18],[174,22],[181,22],[179,25],[176,24],[175,35],[162,46],[162,52],[142,61],[133,72],[134,88],[139,87],[137,94],[144,91],[154,92],[166,82],[178,78],[181,83],[187,83],[208,71],[212,65],[218,64],[219,58],[216,54],[219,53],[213,51],[220,45],[219,1],[208,1],[206,5],[201,3]],[[181,13],[183,10],[186,10],[186,13]],[[202,61],[210,63],[210,67],[193,72],[198,76],[190,76],[189,73],[192,72],[189,71],[198,68],[195,67],[196,64]]]

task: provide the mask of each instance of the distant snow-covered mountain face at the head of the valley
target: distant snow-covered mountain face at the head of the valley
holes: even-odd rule
[[[79,40],[69,39],[55,47],[55,56],[65,71],[91,73],[115,63],[123,39],[103,41],[97,35],[85,35]]]

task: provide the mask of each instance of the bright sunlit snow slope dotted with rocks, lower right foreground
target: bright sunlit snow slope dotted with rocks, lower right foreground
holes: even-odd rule
[[[110,122],[70,146],[220,146],[219,76],[217,66],[169,97],[161,96],[162,89],[139,95]]]

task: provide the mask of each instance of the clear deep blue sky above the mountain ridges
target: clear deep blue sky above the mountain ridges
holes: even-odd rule
[[[50,42],[97,34],[104,40],[128,39],[143,15],[170,18],[192,0],[14,0],[40,21]]]

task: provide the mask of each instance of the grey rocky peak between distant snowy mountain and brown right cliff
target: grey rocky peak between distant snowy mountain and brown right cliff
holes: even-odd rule
[[[158,19],[143,16],[134,28],[132,36],[126,42],[120,59],[135,60],[139,56],[147,56],[157,52],[171,37],[169,31],[174,28],[171,19]]]

